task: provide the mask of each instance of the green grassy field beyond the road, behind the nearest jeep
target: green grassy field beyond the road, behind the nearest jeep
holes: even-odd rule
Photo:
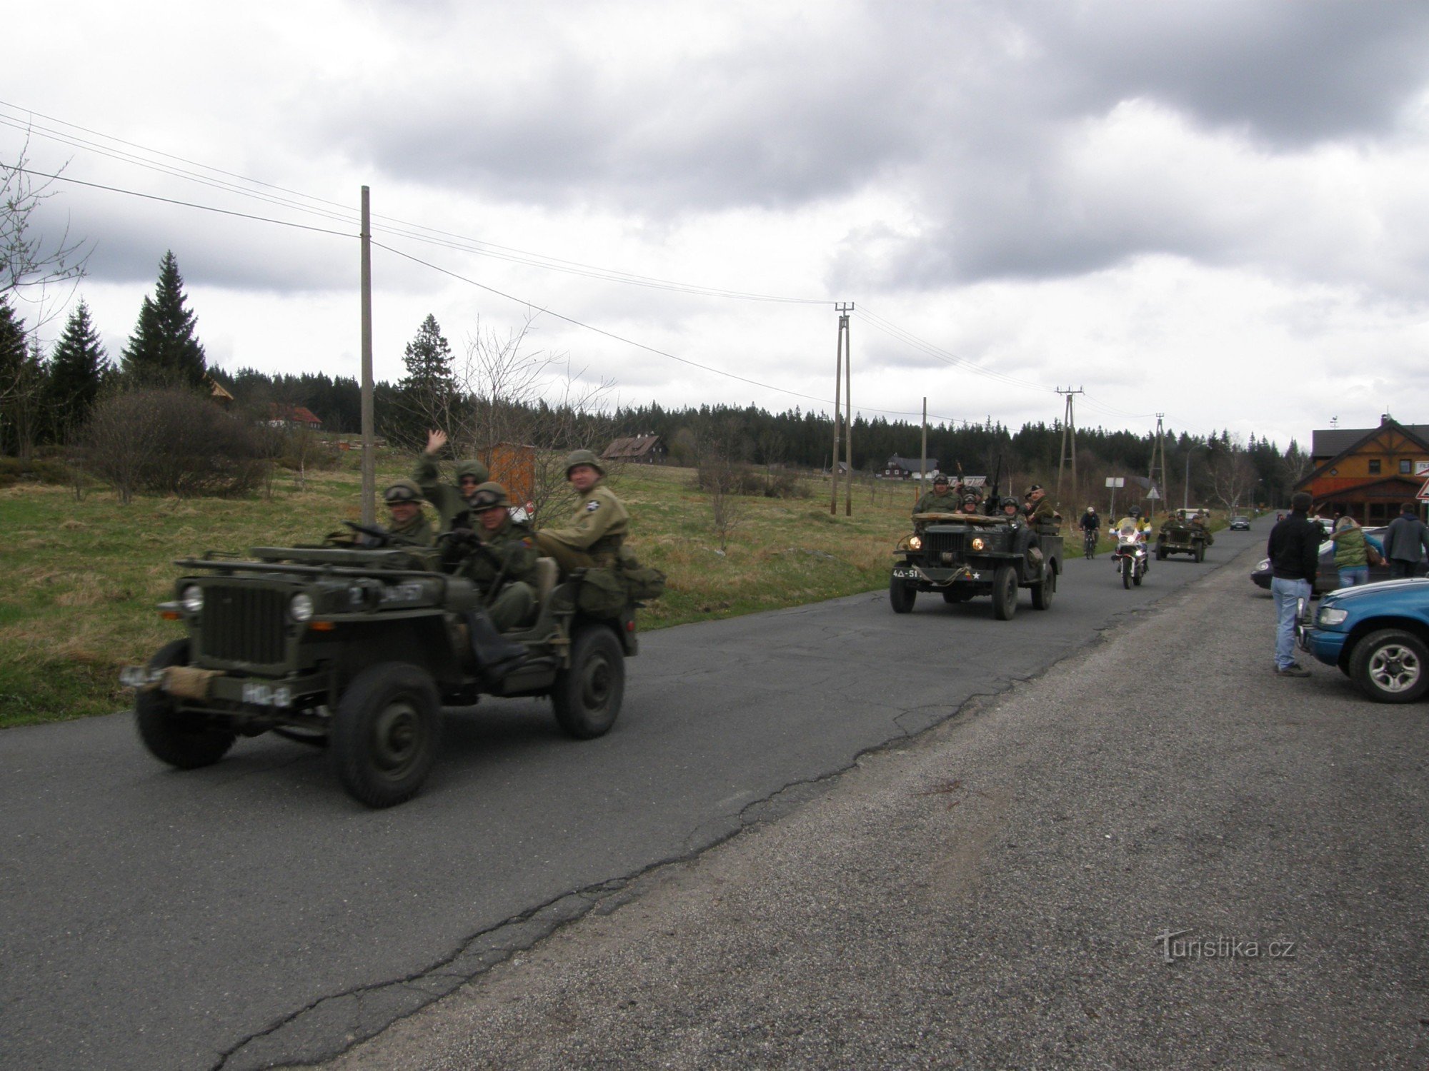
[[[6,594],[0,600],[0,727],[107,714],[129,704],[119,670],[180,634],[154,605],[170,598],[173,561],[206,550],[316,543],[357,520],[360,476],[349,464],[276,477],[240,500],[144,498],[69,487],[0,488]],[[379,487],[410,457],[379,460]],[[740,524],[719,551],[709,497],[687,468],[627,467],[612,486],[632,514],[629,545],[669,575],[642,628],[733,617],[883,587],[889,551],[907,531],[915,491],[862,483],[853,517],[829,516],[827,481],[809,498],[739,497]],[[842,488],[840,488],[842,491]],[[564,514],[557,513],[557,520]],[[379,518],[380,520],[380,518]]]

